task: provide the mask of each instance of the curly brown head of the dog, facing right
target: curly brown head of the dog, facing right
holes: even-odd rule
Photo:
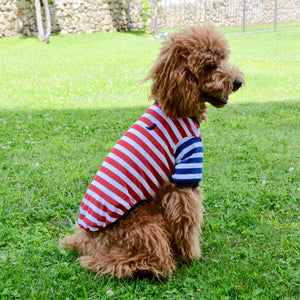
[[[223,107],[244,84],[243,73],[230,65],[223,35],[213,28],[192,27],[165,41],[147,79],[151,97],[171,119],[206,119],[208,102]]]

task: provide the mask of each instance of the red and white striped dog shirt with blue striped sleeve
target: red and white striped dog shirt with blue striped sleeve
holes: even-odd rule
[[[103,229],[141,200],[153,200],[165,182],[198,186],[203,144],[193,118],[171,120],[151,105],[108,154],[80,205],[78,224]]]

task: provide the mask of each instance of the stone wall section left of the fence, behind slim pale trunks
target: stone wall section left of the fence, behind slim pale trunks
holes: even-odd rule
[[[52,33],[143,28],[140,0],[52,0]],[[34,0],[0,0],[0,37],[37,35]]]

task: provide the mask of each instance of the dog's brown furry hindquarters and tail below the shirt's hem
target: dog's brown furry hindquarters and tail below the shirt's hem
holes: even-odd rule
[[[175,268],[166,221],[154,201],[141,203],[99,232],[76,227],[62,246],[79,252],[84,267],[103,275],[169,277]]]

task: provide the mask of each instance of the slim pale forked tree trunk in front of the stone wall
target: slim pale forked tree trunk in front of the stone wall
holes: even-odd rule
[[[46,15],[46,33],[44,31],[43,20],[42,20],[42,11],[41,11],[41,0],[35,0],[35,12],[36,12],[36,21],[38,25],[38,37],[41,42],[44,44],[49,42],[51,34],[51,16],[48,0],[42,0],[45,15]]]

